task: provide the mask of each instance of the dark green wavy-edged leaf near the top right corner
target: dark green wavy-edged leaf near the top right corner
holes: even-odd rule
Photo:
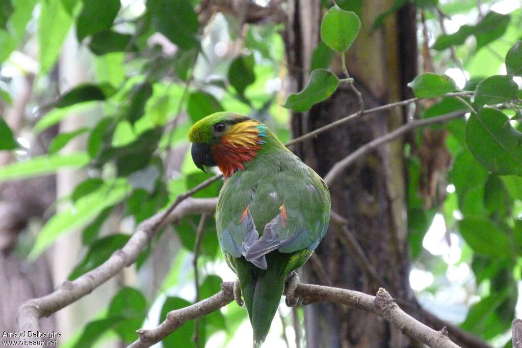
[[[452,45],[461,45],[470,35],[477,38],[476,50],[500,38],[507,29],[511,17],[490,11],[474,26],[464,25],[453,34],[441,35],[432,46],[434,50],[445,50]]]

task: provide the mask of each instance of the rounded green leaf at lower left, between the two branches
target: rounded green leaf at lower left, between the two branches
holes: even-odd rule
[[[147,315],[147,301],[139,290],[132,287],[122,289],[112,298],[107,316],[124,318],[114,326],[120,338],[127,343],[138,338],[136,330],[141,327]]]

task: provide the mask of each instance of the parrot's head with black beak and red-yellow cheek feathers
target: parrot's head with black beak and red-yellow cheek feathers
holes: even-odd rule
[[[205,166],[219,167],[225,177],[253,160],[262,149],[268,128],[253,118],[230,112],[211,114],[192,126],[188,140],[192,145],[192,160],[206,172]]]

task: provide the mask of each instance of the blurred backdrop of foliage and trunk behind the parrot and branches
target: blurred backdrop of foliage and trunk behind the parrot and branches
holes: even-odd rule
[[[187,130],[198,119],[243,113],[287,142],[357,111],[349,87],[303,113],[282,106],[303,89],[311,69],[342,75],[339,55],[319,38],[333,5],[2,0],[0,331],[18,330],[21,302],[99,266],[140,222],[215,174],[197,170],[187,155]],[[428,71],[473,91],[484,77],[506,73],[506,52],[522,39],[519,0],[337,5],[362,21],[346,57],[367,108],[411,98],[406,84]],[[515,82],[520,86],[520,77]],[[324,176],[409,119],[462,109],[454,99],[421,100],[291,150]],[[504,111],[520,117],[519,104]],[[447,323],[460,328],[462,346],[508,347],[511,321],[522,310],[522,178],[492,174],[477,162],[464,127],[458,119],[413,131],[350,166],[330,187],[333,209],[348,220],[366,259],[354,257],[353,244],[332,226],[302,280],[369,294],[384,286],[436,330]],[[221,183],[195,197],[216,197]],[[196,293],[205,298],[235,280],[209,218],[196,292],[200,218],[165,227],[134,265],[42,319],[42,331],[60,332],[60,347],[126,346],[138,328],[155,327],[169,310],[194,303]],[[158,346],[243,347],[250,340],[246,310],[232,303]],[[362,311],[284,303],[270,345],[422,346]]]

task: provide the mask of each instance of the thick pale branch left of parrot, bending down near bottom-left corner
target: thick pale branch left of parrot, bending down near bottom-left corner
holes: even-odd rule
[[[205,182],[207,186],[210,183]],[[201,186],[201,184],[198,186]],[[216,210],[216,198],[189,198],[182,201],[184,199],[182,197],[186,198],[192,195],[194,189],[178,196],[167,210],[157,213],[141,223],[127,244],[122,249],[116,250],[101,266],[74,281],[64,282],[49,295],[24,302],[18,308],[17,320],[20,330],[39,331],[38,320],[41,317],[48,317],[57,310],[77,301],[114,277],[124,267],[132,265],[141,250],[145,248],[150,239],[165,223],[175,223],[188,214],[213,214]]]

